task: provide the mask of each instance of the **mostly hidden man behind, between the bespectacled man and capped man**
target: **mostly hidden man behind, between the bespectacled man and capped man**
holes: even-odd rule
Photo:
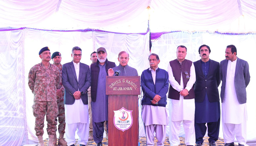
[[[97,62],[97,52],[91,53],[91,64],[94,64]],[[89,65],[91,67],[91,65]],[[90,125],[89,125],[89,137],[88,140],[92,141],[93,140],[93,118],[91,116],[91,87],[88,88],[88,113],[89,113],[89,118],[90,118]],[[105,128],[105,127],[104,127]]]

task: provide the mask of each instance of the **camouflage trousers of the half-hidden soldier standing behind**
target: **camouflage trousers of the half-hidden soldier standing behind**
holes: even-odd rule
[[[65,107],[64,107],[64,97],[57,98],[57,104],[59,106],[59,114],[58,114],[58,120],[59,120],[59,126],[58,131],[59,133],[65,133]],[[57,118],[55,121],[58,121]],[[57,131],[57,130],[56,130]]]

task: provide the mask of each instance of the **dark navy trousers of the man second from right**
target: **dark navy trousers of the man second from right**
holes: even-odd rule
[[[219,138],[219,124],[221,122],[221,118],[218,119],[217,122],[210,122],[207,123],[208,127],[208,141],[215,142]],[[195,132],[196,132],[196,144],[203,144],[204,140],[203,137],[206,134],[206,123],[196,123],[195,122]]]

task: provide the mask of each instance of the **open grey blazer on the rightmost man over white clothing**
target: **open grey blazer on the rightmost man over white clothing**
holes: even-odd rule
[[[220,66],[221,85],[221,102],[223,102],[226,87],[228,60],[222,60]],[[246,87],[250,82],[249,64],[248,62],[237,57],[234,84],[236,88],[237,100],[240,104],[246,103]]]

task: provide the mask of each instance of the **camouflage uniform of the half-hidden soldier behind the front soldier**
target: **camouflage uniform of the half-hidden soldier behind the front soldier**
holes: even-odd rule
[[[64,108],[64,91],[65,88],[62,85],[62,80],[61,80],[61,74],[62,74],[62,65],[60,65],[59,67],[60,70],[60,83],[57,87],[57,89],[61,89],[62,94],[60,96],[57,96],[57,104],[58,104],[58,110],[59,110],[59,114],[57,115],[58,120],[59,120],[59,126],[58,126],[58,131],[59,133],[65,133],[65,108]],[[56,121],[57,118],[55,119]]]

